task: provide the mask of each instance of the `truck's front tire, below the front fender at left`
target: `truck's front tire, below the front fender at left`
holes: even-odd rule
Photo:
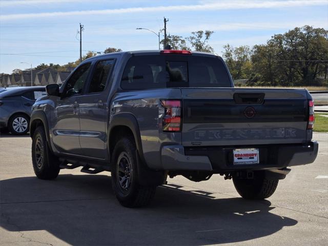
[[[59,173],[59,160],[48,146],[43,127],[34,131],[32,139],[32,163],[35,175],[40,179],[55,179]]]

